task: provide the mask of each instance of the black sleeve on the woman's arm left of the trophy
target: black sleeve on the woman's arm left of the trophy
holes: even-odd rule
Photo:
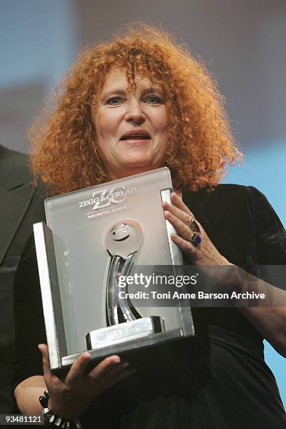
[[[46,343],[43,307],[33,233],[22,252],[14,282],[15,360],[12,388],[43,374],[37,345]]]

